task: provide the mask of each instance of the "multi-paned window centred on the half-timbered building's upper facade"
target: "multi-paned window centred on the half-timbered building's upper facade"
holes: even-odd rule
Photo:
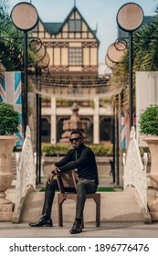
[[[82,65],[82,49],[81,48],[69,48],[68,63],[69,63],[69,66]]]

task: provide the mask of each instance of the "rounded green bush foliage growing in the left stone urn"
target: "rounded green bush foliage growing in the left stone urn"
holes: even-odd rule
[[[0,103],[0,135],[9,135],[18,132],[19,117],[13,105]]]

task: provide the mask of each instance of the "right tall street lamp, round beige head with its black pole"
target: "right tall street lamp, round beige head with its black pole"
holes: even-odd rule
[[[130,130],[132,128],[132,115],[133,115],[133,104],[132,104],[132,32],[142,25],[143,10],[140,5],[135,3],[128,3],[122,5],[116,16],[118,26],[129,32],[129,110],[130,110]]]

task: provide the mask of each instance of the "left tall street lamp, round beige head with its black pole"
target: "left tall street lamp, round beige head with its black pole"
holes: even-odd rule
[[[38,15],[37,9],[30,3],[22,2],[15,5],[11,12],[13,24],[20,30],[24,31],[24,112],[23,125],[24,137],[26,135],[27,125],[27,32],[37,26]]]

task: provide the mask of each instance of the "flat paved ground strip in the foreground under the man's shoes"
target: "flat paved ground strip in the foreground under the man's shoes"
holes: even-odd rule
[[[142,222],[101,222],[100,228],[94,222],[86,222],[85,229],[79,234],[71,235],[72,223],[66,222],[59,228],[31,228],[27,223],[0,223],[1,238],[158,238],[158,223],[143,224]]]

